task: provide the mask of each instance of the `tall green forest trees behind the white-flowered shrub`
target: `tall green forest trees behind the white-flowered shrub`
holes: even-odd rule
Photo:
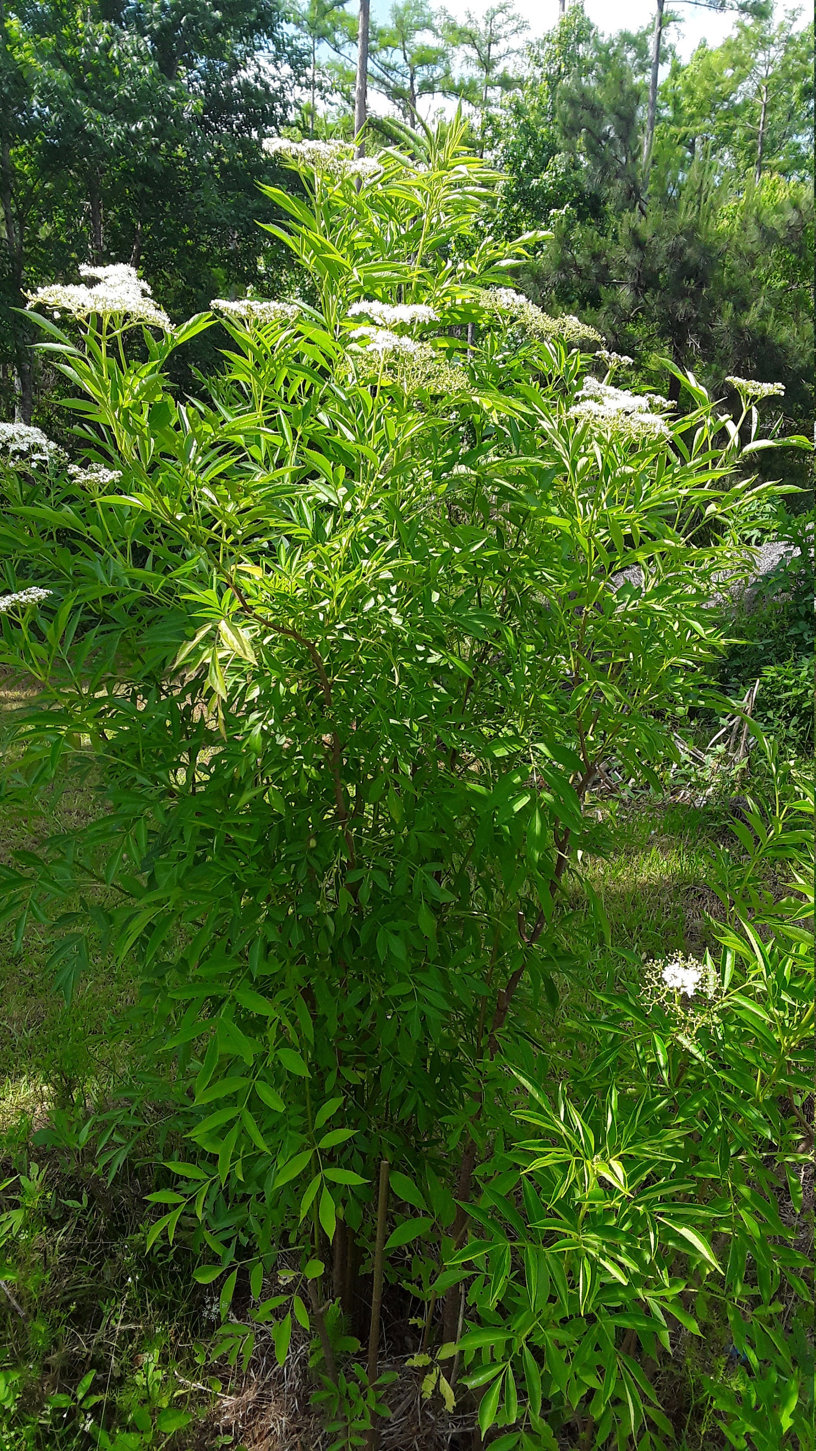
[[[261,142],[351,135],[357,15],[350,0],[6,0],[0,25],[0,415],[64,438],[25,292],[110,261],[138,267],[171,318],[302,289],[257,225],[272,219],[258,183],[283,183]],[[534,302],[645,367],[656,354],[714,389],[729,373],[780,382],[807,432],[812,25],[754,4],[687,61],[675,32],[666,12],[645,168],[650,28],[608,36],[572,4],[536,38],[510,3],[457,22],[404,0],[372,22],[370,145],[393,139],[391,118],[462,102],[505,174],[489,226],[552,232],[520,276]],[[222,344],[211,331],[190,355],[211,371]]]

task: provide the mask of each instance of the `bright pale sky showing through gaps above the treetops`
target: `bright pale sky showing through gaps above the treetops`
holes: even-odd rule
[[[443,9],[459,20],[466,10],[472,10],[476,16],[484,15],[489,3],[491,0],[446,0]],[[643,25],[652,25],[655,17],[653,0],[584,0],[584,7],[589,19],[607,32],[637,30]],[[372,0],[375,19],[385,20],[389,9],[391,0]],[[666,6],[666,9],[669,7]],[[736,19],[733,10],[717,15],[698,4],[690,4],[688,0],[674,0],[671,9],[681,16],[681,25],[672,26],[668,33],[684,59],[703,39],[709,45],[720,45],[733,29]],[[558,20],[558,0],[515,0],[515,10],[527,20],[530,39],[543,35]]]

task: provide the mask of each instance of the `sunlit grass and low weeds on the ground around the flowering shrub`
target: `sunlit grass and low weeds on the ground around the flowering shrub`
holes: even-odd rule
[[[12,689],[4,704],[17,704]],[[713,918],[725,914],[711,889],[713,863],[740,800],[732,789],[713,800],[652,795],[619,802],[616,852],[581,863],[584,885],[571,888],[563,933],[565,950],[582,943],[598,987],[608,988],[627,963],[672,952],[701,953],[713,945]],[[600,801],[592,810],[604,814],[611,807]],[[87,782],[65,782],[44,802],[41,818],[22,820],[6,810],[1,859],[13,860],[15,852],[35,849],[45,834],[91,811]],[[607,940],[597,936],[604,917]],[[592,933],[594,949],[587,952]],[[565,1016],[581,988],[569,975],[558,982],[559,1016]],[[36,932],[22,950],[7,932],[0,940],[0,1259],[6,1261],[0,1271],[0,1448],[245,1445],[295,1451],[301,1445],[306,1451],[312,1441],[318,1444],[303,1393],[306,1336],[290,1352],[286,1374],[269,1333],[258,1336],[245,1367],[231,1368],[224,1360],[211,1364],[216,1294],[193,1281],[183,1246],[173,1249],[160,1239],[145,1251],[154,1217],[145,1196],[157,1187],[155,1171],[128,1161],[107,1184],[81,1146],[87,1107],[105,1101],[134,1051],[132,1037],[109,1030],[132,998],[128,963],[99,958],[65,1007]],[[386,1312],[386,1344],[402,1358],[402,1371],[405,1355],[420,1349],[420,1333],[399,1307],[391,1320]],[[801,1362],[812,1351],[796,1316],[791,1333],[801,1342]],[[723,1364],[736,1354],[733,1347],[729,1351],[726,1331],[716,1354]],[[674,1407],[675,1425],[685,1425],[688,1448],[722,1444],[703,1412],[709,1405],[703,1377],[710,1371],[710,1347],[701,1348],[685,1332],[677,1336],[661,1399]],[[420,1370],[414,1381],[402,1376],[402,1399],[383,1429],[383,1451],[472,1444],[469,1429],[456,1438],[456,1413],[449,1416],[438,1396],[423,1397],[424,1378]],[[462,1425],[469,1421],[460,1418]]]

